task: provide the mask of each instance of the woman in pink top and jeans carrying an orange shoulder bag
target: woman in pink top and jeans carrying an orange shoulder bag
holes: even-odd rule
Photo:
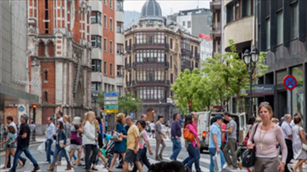
[[[190,171],[192,171],[192,164],[196,161],[198,155],[197,155],[197,149],[196,144],[199,144],[199,140],[197,137],[197,132],[195,131],[194,127],[193,127],[193,122],[192,122],[192,116],[191,115],[187,115],[186,119],[185,119],[185,123],[184,123],[184,127],[186,129],[189,129],[191,133],[193,133],[193,135],[195,136],[195,140],[193,140],[193,142],[187,141],[186,140],[186,146],[188,149],[188,153],[189,153],[189,160],[188,163],[186,164],[186,167],[189,168]]]

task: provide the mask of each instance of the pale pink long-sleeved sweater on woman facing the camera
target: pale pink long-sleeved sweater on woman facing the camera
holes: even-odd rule
[[[256,128],[255,124],[253,126],[253,131],[252,131],[252,136],[254,133],[254,130]],[[256,145],[256,156],[258,157],[276,157],[277,152],[276,152],[276,144],[279,143],[282,149],[282,162],[286,162],[287,158],[287,145],[281,130],[281,127],[276,125],[274,129],[269,130],[266,132],[264,135],[265,131],[260,129],[261,124],[258,125],[257,131],[254,136],[254,142]],[[262,144],[263,144],[263,149],[261,150],[259,145],[260,145],[260,138],[259,138],[259,133],[261,130],[261,139],[262,139]],[[264,136],[263,136],[264,135]],[[252,137],[249,138],[247,144],[252,143]]]

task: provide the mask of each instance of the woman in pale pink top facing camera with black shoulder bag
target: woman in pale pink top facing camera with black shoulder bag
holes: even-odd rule
[[[270,105],[260,104],[258,114],[262,122],[253,126],[253,134],[247,143],[249,149],[256,148],[255,171],[284,171],[288,152],[281,127],[271,122],[273,110]],[[257,131],[255,131],[256,125],[258,125]],[[254,132],[256,133],[253,144]],[[280,162],[276,152],[277,142],[282,149]]]

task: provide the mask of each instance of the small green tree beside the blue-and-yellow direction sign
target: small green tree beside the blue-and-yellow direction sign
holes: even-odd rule
[[[141,100],[139,97],[135,97],[130,93],[126,93],[124,96],[118,98],[118,110],[119,112],[128,114],[130,112],[136,113],[142,109],[140,104]]]

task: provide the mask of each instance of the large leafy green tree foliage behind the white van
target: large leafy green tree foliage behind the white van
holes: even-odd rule
[[[233,96],[238,98],[239,111],[242,111],[241,98],[246,96],[243,91],[248,89],[250,74],[233,40],[229,40],[229,49],[225,54],[216,53],[214,58],[207,58],[202,69],[195,68],[192,72],[186,69],[180,73],[172,91],[183,113],[188,112],[189,102],[193,111],[210,110],[212,105],[220,105],[224,110]],[[265,53],[260,52],[253,79],[267,72],[264,63]]]

